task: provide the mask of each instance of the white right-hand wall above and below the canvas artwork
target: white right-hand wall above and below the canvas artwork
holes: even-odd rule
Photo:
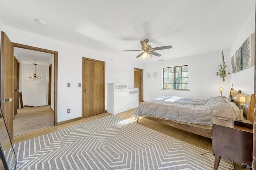
[[[232,55],[237,51],[238,47],[244,43],[244,41],[254,33],[255,29],[255,8],[251,12],[250,17],[244,24],[242,30],[236,37],[232,47],[230,48],[229,60],[231,61]],[[254,57],[254,56],[252,56]],[[236,72],[231,74],[230,86],[234,84],[235,90],[241,90],[242,93],[254,94],[254,66],[247,68],[245,70],[241,70],[240,72]]]

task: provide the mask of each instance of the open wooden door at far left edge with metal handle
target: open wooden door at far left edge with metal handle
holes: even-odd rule
[[[13,48],[13,43],[1,31],[1,108],[10,139],[13,138]]]

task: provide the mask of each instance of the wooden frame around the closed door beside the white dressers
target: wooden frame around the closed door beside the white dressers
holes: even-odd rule
[[[106,112],[105,111],[105,92],[106,92],[106,86],[105,86],[105,79],[106,79],[106,76],[105,76],[105,72],[106,72],[106,63],[105,61],[100,61],[100,60],[95,60],[95,59],[89,59],[89,58],[86,58],[86,57],[82,57],[82,119],[85,118],[84,117],[84,77],[85,77],[85,74],[84,74],[84,70],[85,70],[85,60],[90,60],[90,61],[96,61],[96,62],[101,62],[101,63],[104,63],[104,92],[103,92],[103,103],[104,103],[104,113]]]

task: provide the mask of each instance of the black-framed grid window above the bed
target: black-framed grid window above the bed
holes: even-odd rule
[[[188,90],[188,65],[166,67],[163,71],[164,89]]]

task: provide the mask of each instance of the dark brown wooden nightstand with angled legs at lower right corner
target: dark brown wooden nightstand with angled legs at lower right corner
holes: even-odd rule
[[[221,120],[212,116],[212,153],[215,154],[214,170],[224,157],[238,164],[252,163],[253,129],[233,125],[232,119]]]

